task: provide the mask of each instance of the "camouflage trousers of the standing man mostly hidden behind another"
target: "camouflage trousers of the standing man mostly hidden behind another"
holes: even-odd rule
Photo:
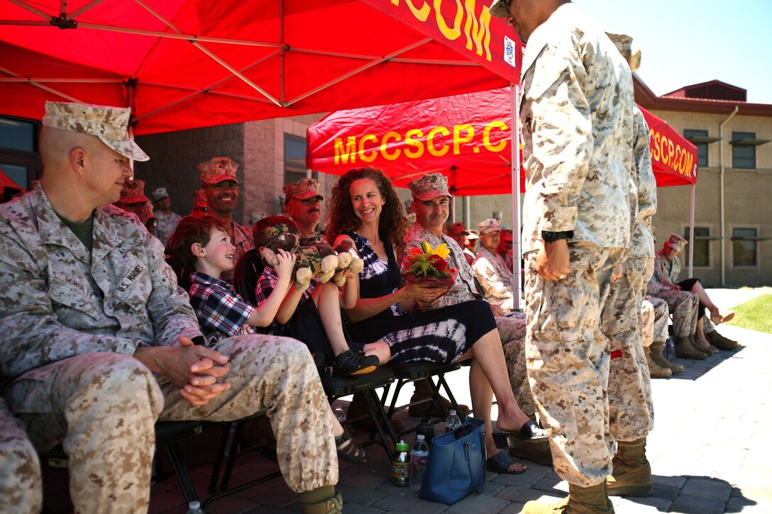
[[[608,424],[620,441],[645,438],[654,424],[652,382],[641,343],[643,276],[654,259],[625,261],[622,275],[611,282],[601,330],[608,337],[611,363],[608,373]]]

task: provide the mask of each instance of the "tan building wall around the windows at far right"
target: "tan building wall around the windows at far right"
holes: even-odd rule
[[[731,107],[727,107],[731,112]],[[685,129],[708,130],[710,137],[719,137],[719,125],[727,114],[685,113],[653,110],[680,134]],[[733,228],[757,228],[760,238],[772,238],[772,143],[756,147],[754,170],[732,166],[733,132],[755,132],[757,139],[772,139],[772,120],[768,117],[737,114],[723,130],[723,140],[708,145],[708,167],[698,171],[695,201],[695,226],[710,228],[710,265],[695,268],[694,276],[706,286],[721,286],[721,161],[724,164],[724,285],[769,286],[772,284],[772,239],[757,243],[757,266],[736,268],[733,265]],[[659,245],[670,232],[683,234],[689,226],[690,188],[679,186],[659,188],[659,208],[654,217]],[[686,253],[686,252],[684,252]],[[686,262],[686,259],[684,260]],[[686,278],[686,270],[682,272]]]

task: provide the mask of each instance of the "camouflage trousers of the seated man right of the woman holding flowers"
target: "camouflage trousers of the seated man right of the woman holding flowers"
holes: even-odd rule
[[[528,383],[526,367],[526,314],[496,317],[499,337],[504,345],[506,369],[510,372],[510,384],[520,409],[528,416],[536,412]]]

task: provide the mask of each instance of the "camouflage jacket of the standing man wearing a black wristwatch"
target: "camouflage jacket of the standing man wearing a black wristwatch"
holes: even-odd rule
[[[523,56],[523,252],[540,231],[626,248],[634,169],[632,75],[625,59],[574,4],[561,5]]]

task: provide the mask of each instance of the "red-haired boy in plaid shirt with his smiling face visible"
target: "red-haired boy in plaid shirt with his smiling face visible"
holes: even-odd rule
[[[207,341],[256,333],[253,327],[265,327],[273,323],[284,294],[291,285],[295,255],[279,250],[276,289],[265,302],[256,307],[245,302],[235,293],[231,284],[219,278],[222,272],[234,269],[235,246],[217,218],[208,215],[182,218],[169,238],[169,250],[186,270],[195,269],[190,274],[188,293],[201,332]],[[367,462],[370,458],[367,448],[357,445],[349,431],[344,430],[330,404],[327,404],[327,410],[333,424],[338,457],[352,464]]]

